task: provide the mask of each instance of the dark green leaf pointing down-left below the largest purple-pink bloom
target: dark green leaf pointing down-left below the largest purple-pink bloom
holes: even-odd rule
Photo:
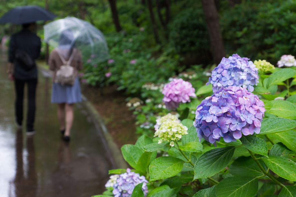
[[[202,154],[194,166],[194,179],[211,177],[223,170],[231,161],[234,150],[234,146],[228,146]]]

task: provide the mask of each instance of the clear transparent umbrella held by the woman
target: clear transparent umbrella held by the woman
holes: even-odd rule
[[[44,25],[44,40],[65,57],[73,48],[81,51],[83,61],[99,63],[109,58],[103,33],[85,20],[66,17]]]

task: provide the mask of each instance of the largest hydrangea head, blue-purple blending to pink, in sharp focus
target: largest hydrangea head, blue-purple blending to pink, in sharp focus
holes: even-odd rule
[[[193,124],[199,139],[231,142],[242,134],[260,133],[264,112],[263,101],[245,88],[221,87],[197,106]]]

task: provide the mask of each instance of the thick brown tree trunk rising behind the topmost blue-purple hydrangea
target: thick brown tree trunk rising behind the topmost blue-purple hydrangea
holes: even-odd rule
[[[212,55],[215,63],[218,65],[221,62],[221,59],[226,56],[220,31],[219,15],[214,0],[202,0],[202,8],[210,36]]]

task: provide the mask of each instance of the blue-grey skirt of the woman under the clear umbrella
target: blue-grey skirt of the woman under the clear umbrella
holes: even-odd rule
[[[81,102],[81,90],[78,77],[74,85],[52,84],[52,103],[73,104]]]

